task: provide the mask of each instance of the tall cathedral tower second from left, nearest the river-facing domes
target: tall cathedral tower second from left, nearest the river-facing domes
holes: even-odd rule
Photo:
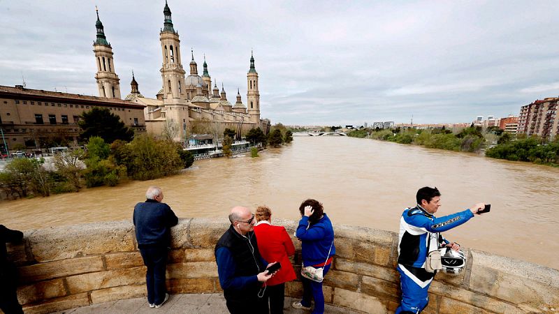
[[[165,104],[185,103],[184,73],[180,58],[179,33],[173,29],[170,18],[170,8],[165,1],[163,10],[165,15],[164,28],[159,33],[163,63],[161,66],[161,79],[163,80],[163,99]]]

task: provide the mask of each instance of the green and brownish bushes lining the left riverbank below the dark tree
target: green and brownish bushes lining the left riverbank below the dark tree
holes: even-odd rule
[[[126,143],[108,144],[99,136],[82,149],[55,156],[55,170],[45,170],[44,160],[16,158],[0,173],[0,188],[8,198],[78,192],[83,186],[116,186],[126,179],[149,180],[174,174],[194,163],[194,156],[180,144],[138,135]]]

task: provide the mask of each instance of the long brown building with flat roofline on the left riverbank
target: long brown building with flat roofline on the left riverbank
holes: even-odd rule
[[[46,149],[78,144],[78,121],[93,107],[107,108],[136,132],[145,133],[144,105],[118,98],[85,96],[0,86],[0,147],[4,153],[15,144]]]

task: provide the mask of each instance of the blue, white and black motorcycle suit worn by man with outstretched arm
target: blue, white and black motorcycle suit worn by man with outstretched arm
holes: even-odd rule
[[[435,218],[419,205],[404,210],[400,218],[397,267],[402,302],[396,314],[420,313],[427,306],[427,291],[435,276],[435,273],[425,270],[428,251],[435,251],[449,243],[439,232],[458,227],[473,216],[470,209],[441,218]]]

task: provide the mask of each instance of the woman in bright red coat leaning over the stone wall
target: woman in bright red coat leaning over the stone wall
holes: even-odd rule
[[[272,211],[260,206],[256,209],[256,225],[254,234],[258,241],[258,249],[266,262],[279,262],[282,268],[266,282],[264,297],[270,299],[270,313],[284,313],[285,283],[297,278],[289,256],[295,254],[295,247],[281,225],[272,225]]]

